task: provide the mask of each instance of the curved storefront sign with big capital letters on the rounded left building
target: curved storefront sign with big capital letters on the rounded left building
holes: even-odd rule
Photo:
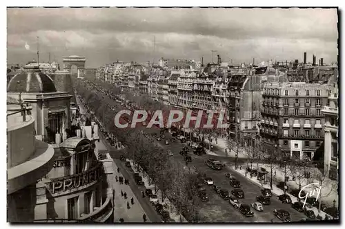
[[[52,194],[55,194],[58,192],[66,192],[68,190],[86,186],[93,181],[101,179],[102,173],[103,170],[101,163],[99,163],[98,166],[86,172],[54,179],[54,181],[50,182],[50,190]]]

